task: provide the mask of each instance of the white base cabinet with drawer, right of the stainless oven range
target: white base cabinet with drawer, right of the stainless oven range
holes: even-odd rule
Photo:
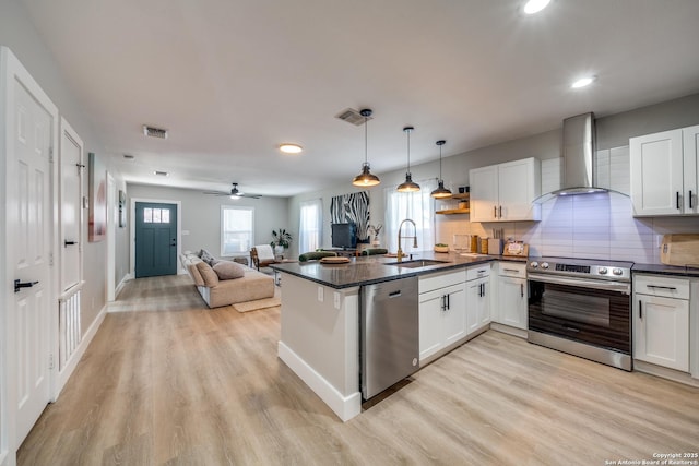
[[[689,372],[689,280],[633,277],[633,357]]]

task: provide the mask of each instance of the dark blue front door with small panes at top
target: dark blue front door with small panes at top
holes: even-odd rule
[[[177,205],[135,203],[135,277],[177,274]]]

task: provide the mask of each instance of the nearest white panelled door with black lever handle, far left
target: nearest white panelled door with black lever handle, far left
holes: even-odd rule
[[[8,398],[11,452],[50,401],[50,328],[56,309],[51,272],[52,147],[58,110],[7,49],[7,240],[4,264],[15,285],[8,296]],[[8,64],[9,63],[9,64]],[[12,422],[14,420],[14,422]],[[12,426],[14,425],[14,426]]]

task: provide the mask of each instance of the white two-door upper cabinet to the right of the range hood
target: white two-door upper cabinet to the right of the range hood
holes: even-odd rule
[[[635,216],[699,213],[699,126],[631,138]]]

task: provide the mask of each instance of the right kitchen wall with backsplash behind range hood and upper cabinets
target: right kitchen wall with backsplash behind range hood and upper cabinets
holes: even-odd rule
[[[657,105],[629,110],[612,116],[597,116],[597,150],[605,158],[605,172],[611,188],[629,192],[629,138],[683,128],[699,123],[699,94],[668,100]],[[561,121],[562,126],[562,121]],[[445,145],[448,153],[449,141]],[[561,128],[469,151],[442,159],[445,186],[457,192],[469,186],[469,170],[502,162],[536,157],[542,160],[542,193],[560,186],[559,157],[561,154]],[[413,180],[435,179],[439,175],[438,162],[411,167]],[[381,184],[371,188],[370,223],[384,223],[384,190],[392,190],[404,180],[405,170],[375,174]],[[329,218],[330,199],[333,195],[356,191],[347,179],[346,186],[297,195],[289,201],[289,225],[298,234],[299,203],[308,199],[322,199],[323,215]],[[438,202],[438,201],[436,201]],[[323,226],[329,226],[325,220]],[[438,215],[436,231],[438,242],[453,243],[454,234],[491,236],[494,228],[502,228],[507,237],[531,244],[533,255],[558,255],[629,260],[639,263],[659,263],[656,247],[659,237],[667,232],[698,232],[697,217],[639,218],[631,216],[631,204],[620,194],[582,195],[556,199],[542,205],[542,222],[481,224],[469,220],[469,215]],[[330,244],[330,231],[323,232],[323,244]],[[382,238],[382,242],[384,239]]]

